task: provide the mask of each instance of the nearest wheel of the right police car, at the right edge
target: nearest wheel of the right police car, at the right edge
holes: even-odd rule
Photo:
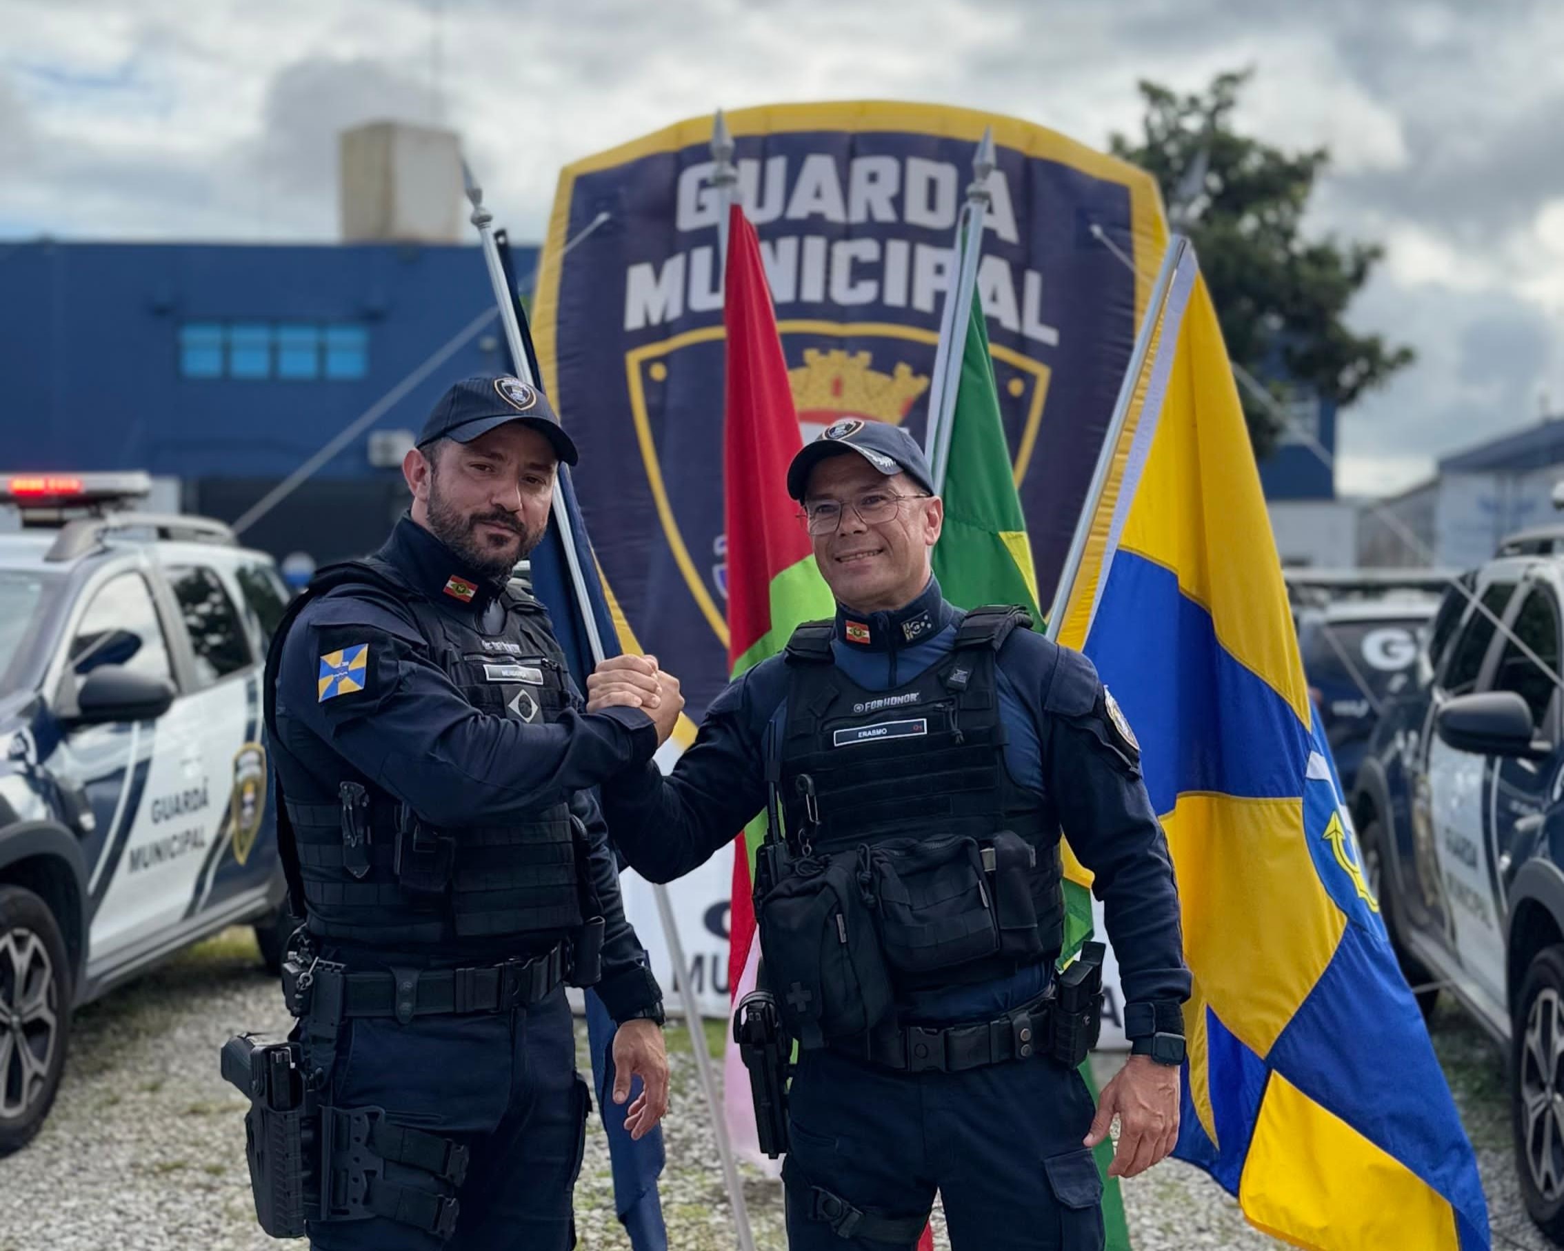
[[[1509,1085],[1520,1196],[1564,1245],[1564,946],[1539,951],[1520,982]]]

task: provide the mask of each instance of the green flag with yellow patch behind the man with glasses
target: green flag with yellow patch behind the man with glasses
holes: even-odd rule
[[[935,364],[938,369],[938,364]],[[945,529],[934,547],[934,575],[940,590],[959,608],[979,604],[1024,604],[1032,621],[1043,629],[1037,608],[1037,574],[1032,571],[1032,549],[1026,538],[1026,518],[1017,493],[1010,447],[999,418],[999,391],[995,385],[993,361],[988,357],[988,325],[982,302],[973,292],[971,317],[962,350],[962,369],[956,402],[949,414],[949,439],[945,460]],[[935,458],[935,463],[938,458]],[[1065,945],[1064,955],[1073,955],[1092,937],[1090,877],[1065,848]],[[1081,1065],[1096,1096],[1092,1062]],[[1109,1251],[1128,1251],[1129,1229],[1118,1179],[1107,1176],[1114,1145],[1104,1140],[1096,1148],[1098,1171],[1103,1174],[1103,1218],[1107,1226]]]

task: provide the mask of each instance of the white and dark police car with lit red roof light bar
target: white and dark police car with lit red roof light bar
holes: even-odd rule
[[[0,1156],[53,1102],[70,1010],[225,926],[286,938],[261,666],[288,590],[145,474],[0,475]]]

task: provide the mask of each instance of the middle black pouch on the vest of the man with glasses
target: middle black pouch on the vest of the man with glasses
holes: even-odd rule
[[[895,838],[868,849],[885,960],[898,973],[982,960],[999,951],[999,921],[976,838]]]

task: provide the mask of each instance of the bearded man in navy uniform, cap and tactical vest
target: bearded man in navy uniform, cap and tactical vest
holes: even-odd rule
[[[646,765],[677,710],[583,712],[510,580],[576,460],[540,391],[458,382],[402,463],[410,513],[322,569],[274,640],[267,727],[310,946],[285,991],[336,1145],[311,1246],[574,1245],[590,1098],[565,982],[618,1021],[616,1101],[643,1079],[632,1135],[666,1110],[662,995],[591,788]]]

